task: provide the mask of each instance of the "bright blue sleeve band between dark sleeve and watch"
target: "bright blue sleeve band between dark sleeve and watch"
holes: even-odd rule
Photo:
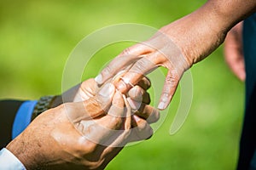
[[[37,103],[37,100],[28,100],[20,105],[12,128],[12,139],[15,139],[15,137],[22,133],[22,131],[29,125],[32,112]]]

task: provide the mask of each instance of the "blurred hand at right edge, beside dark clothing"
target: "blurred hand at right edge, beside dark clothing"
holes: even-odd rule
[[[230,70],[242,82],[245,81],[246,72],[244,65],[244,56],[242,51],[242,22],[234,26],[224,42],[224,56]]]

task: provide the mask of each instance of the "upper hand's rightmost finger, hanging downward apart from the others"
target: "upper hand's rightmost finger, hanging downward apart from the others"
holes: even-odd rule
[[[160,96],[160,103],[158,105],[158,109],[165,110],[166,107],[170,104],[172,96],[177,89],[179,79],[180,77],[177,75],[177,71],[168,71],[166,76],[166,82]]]

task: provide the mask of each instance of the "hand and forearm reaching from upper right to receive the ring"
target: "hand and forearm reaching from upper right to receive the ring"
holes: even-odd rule
[[[195,12],[160,28],[148,41],[125,49],[102,70],[96,82],[102,84],[125,69],[123,78],[136,84],[143,75],[164,66],[168,73],[158,105],[164,110],[171,102],[183,72],[211,54],[236,23],[255,11],[255,0],[208,0]],[[117,88],[126,92],[131,86],[119,81]]]

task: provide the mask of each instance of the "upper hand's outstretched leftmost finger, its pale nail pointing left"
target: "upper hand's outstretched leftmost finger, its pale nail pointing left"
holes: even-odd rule
[[[114,77],[119,71],[123,70],[128,65],[136,62],[139,59],[137,56],[148,52],[143,44],[137,44],[131,48],[126,48],[119,56],[113,59],[95,78],[98,84],[106,82],[110,77]]]

